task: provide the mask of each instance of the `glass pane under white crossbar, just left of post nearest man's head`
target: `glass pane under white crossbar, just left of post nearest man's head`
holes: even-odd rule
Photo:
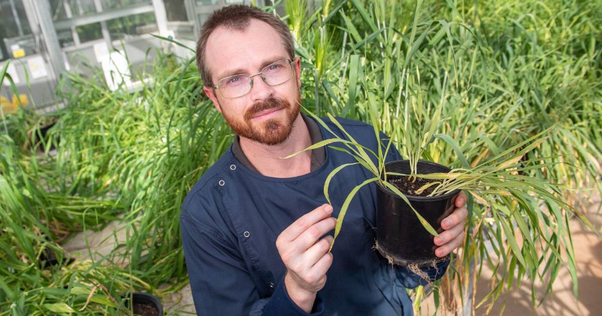
[[[107,27],[111,34],[111,40],[118,40],[157,31],[157,22],[155,13],[148,12],[108,20]]]

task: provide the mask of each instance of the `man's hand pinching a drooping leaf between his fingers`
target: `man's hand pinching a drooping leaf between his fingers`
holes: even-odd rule
[[[332,236],[318,240],[337,224],[337,219],[330,214],[332,206],[319,206],[288,226],[276,239],[276,248],[287,267],[284,285],[288,296],[307,313],[314,306],[316,294],[324,287],[326,271],[332,264],[329,252]]]

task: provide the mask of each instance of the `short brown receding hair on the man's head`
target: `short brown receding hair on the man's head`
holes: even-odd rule
[[[219,10],[211,13],[211,16],[203,23],[200,29],[200,37],[196,43],[196,66],[199,69],[200,76],[203,78],[203,84],[212,86],[211,73],[205,63],[205,47],[207,45],[207,39],[214,29],[219,26],[225,26],[229,29],[235,29],[237,31],[244,31],[249,26],[250,19],[258,19],[265,23],[268,23],[276,32],[280,34],[284,48],[287,50],[291,60],[294,59],[295,48],[293,42],[293,36],[288,26],[282,22],[276,16],[270,13],[259,10],[258,8],[249,7],[247,5],[234,4],[228,7],[220,8]]]

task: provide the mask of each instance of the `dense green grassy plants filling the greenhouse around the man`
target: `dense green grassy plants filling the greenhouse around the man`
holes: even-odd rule
[[[452,168],[477,166],[555,125],[523,162],[562,164],[526,169],[526,178],[559,184],[550,194],[570,203],[579,202],[574,190],[602,190],[599,1],[332,0],[286,8],[304,69],[303,105],[315,113],[379,125],[407,154],[403,131],[444,102],[444,123],[423,158]],[[64,78],[69,88],[59,93],[69,106],[45,136],[48,117],[26,109],[4,117],[0,315],[122,314],[117,306],[132,289],[162,295],[187,282],[179,207],[231,131],[203,96],[192,59],[167,53],[152,63],[142,76],[154,83],[132,94],[108,90],[99,70]],[[577,285],[567,226],[579,207],[525,197],[509,209],[512,201],[500,200],[509,197],[484,198],[495,211],[470,200],[469,234],[445,282],[464,291],[463,267],[476,261],[497,271],[488,302],[523,279],[551,284],[565,267]],[[525,212],[533,203],[547,211]],[[495,225],[500,217],[516,226]],[[111,255],[62,260],[64,240],[112,220],[124,223],[127,240]],[[515,230],[528,242],[513,242]],[[488,239],[496,240],[491,251]],[[62,263],[42,268],[49,252]],[[170,287],[158,290],[163,283]]]

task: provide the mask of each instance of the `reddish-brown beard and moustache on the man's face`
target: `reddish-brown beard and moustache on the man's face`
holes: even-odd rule
[[[256,123],[261,126],[253,126],[252,117],[264,110],[278,108],[284,110],[286,117],[284,122],[278,119],[269,119],[265,122]],[[269,146],[281,144],[287,140],[293,130],[293,123],[299,116],[300,107],[291,105],[288,101],[281,98],[270,98],[265,102],[253,104],[249,110],[244,113],[243,120],[235,119],[224,115],[226,122],[232,130],[241,137],[249,138],[261,144]]]

